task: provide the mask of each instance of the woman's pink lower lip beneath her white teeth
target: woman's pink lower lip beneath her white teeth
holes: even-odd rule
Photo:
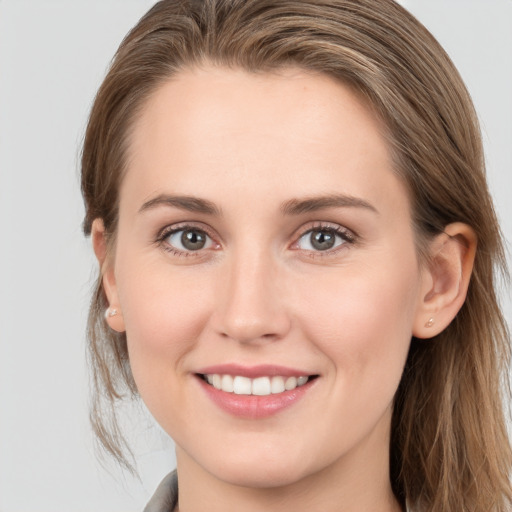
[[[273,416],[296,404],[318,379],[309,380],[291,391],[266,396],[227,393],[214,388],[201,377],[197,377],[197,380],[208,397],[222,410],[240,418],[259,419]]]

